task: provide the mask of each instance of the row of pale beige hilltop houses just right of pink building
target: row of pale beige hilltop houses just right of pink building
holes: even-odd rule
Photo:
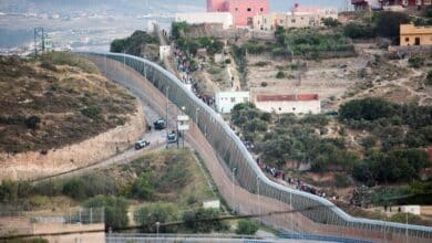
[[[338,19],[336,9],[319,9],[315,7],[300,7],[295,4],[287,13],[268,13],[254,17],[254,30],[272,31],[277,27],[290,28],[313,28],[323,25],[322,19]]]

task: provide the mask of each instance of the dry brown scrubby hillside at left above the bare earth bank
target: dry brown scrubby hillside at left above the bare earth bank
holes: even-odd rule
[[[134,97],[70,53],[0,57],[0,152],[82,141],[128,120]]]

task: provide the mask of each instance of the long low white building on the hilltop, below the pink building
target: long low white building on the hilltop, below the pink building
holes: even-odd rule
[[[234,19],[229,12],[176,13],[175,22],[183,21],[189,24],[222,23],[224,30],[234,27]]]

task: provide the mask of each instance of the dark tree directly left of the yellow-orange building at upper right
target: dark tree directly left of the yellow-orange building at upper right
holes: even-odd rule
[[[395,39],[400,35],[400,25],[410,23],[410,17],[403,12],[381,11],[374,14],[377,34],[383,38]]]

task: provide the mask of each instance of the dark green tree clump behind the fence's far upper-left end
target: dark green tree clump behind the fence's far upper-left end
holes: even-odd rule
[[[135,31],[128,38],[114,40],[111,43],[110,51],[141,56],[141,47],[145,44],[158,44],[158,39],[145,31]]]

